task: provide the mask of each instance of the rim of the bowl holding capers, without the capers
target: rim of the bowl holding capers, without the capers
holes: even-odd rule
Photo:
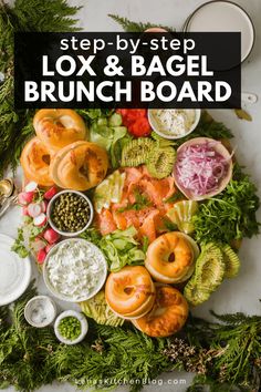
[[[61,195],[64,195],[64,194],[74,194],[74,195],[79,195],[81,197],[83,197],[87,204],[88,204],[88,207],[90,207],[90,219],[86,223],[86,225],[79,231],[62,231],[60,230],[55,224],[53,223],[52,220],[52,208],[53,208],[53,204],[54,202],[61,196]],[[90,198],[84,195],[82,192],[79,192],[79,190],[71,190],[71,189],[66,189],[66,190],[61,190],[52,199],[51,202],[49,203],[48,205],[48,220],[49,220],[49,224],[50,226],[55,230],[58,231],[61,236],[64,236],[64,237],[76,237],[79,236],[81,233],[83,233],[84,230],[86,230],[88,228],[88,226],[92,224],[92,220],[93,220],[93,215],[94,215],[94,210],[93,210],[93,205],[90,200]]]

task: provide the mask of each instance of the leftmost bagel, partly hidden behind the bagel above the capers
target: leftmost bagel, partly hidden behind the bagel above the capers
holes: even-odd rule
[[[38,137],[29,141],[21,154],[21,166],[24,176],[29,180],[34,180],[40,186],[52,186],[54,182],[50,175],[50,163],[52,153]]]

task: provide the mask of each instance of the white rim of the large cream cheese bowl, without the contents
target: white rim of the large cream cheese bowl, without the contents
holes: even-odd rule
[[[50,257],[58,250],[58,248],[60,246],[62,246],[64,243],[74,243],[74,241],[77,241],[77,243],[83,243],[83,244],[87,244],[88,246],[91,246],[96,252],[100,254],[101,258],[101,264],[102,264],[102,269],[103,269],[103,274],[101,276],[101,279],[97,283],[97,286],[95,287],[95,289],[93,289],[91,291],[91,293],[88,292],[87,295],[83,293],[81,296],[81,298],[75,298],[73,296],[66,296],[62,292],[59,292],[55,287],[53,287],[51,280],[50,280],[50,277],[49,277],[49,260],[50,260]],[[70,269],[66,270],[67,274],[72,272]],[[45,260],[44,260],[44,264],[43,264],[43,280],[44,280],[44,283],[45,286],[48,287],[48,289],[52,292],[52,295],[54,297],[56,297],[58,299],[61,299],[63,301],[67,301],[67,302],[81,302],[81,301],[86,301],[87,299],[94,297],[103,287],[103,285],[105,283],[105,280],[106,280],[106,277],[107,277],[107,261],[103,255],[103,252],[98,249],[98,247],[96,247],[94,244],[92,243],[88,243],[87,240],[83,239],[83,238],[69,238],[69,239],[64,239],[63,241],[56,244],[48,254]]]

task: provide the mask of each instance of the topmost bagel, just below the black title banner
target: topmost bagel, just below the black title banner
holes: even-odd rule
[[[86,138],[83,118],[71,109],[41,109],[33,118],[38,137],[53,151]]]

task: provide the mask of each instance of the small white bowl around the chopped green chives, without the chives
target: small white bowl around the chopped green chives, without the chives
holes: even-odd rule
[[[59,324],[60,324],[61,320],[65,319],[66,317],[75,317],[75,319],[77,319],[80,321],[80,323],[81,323],[81,333],[74,340],[65,339],[59,331]],[[87,330],[88,330],[88,323],[87,323],[86,318],[84,317],[83,313],[80,313],[79,311],[75,311],[75,310],[65,310],[65,311],[63,311],[56,318],[55,323],[54,323],[55,336],[64,344],[76,344],[76,343],[80,343],[85,338],[85,336],[87,333]]]

